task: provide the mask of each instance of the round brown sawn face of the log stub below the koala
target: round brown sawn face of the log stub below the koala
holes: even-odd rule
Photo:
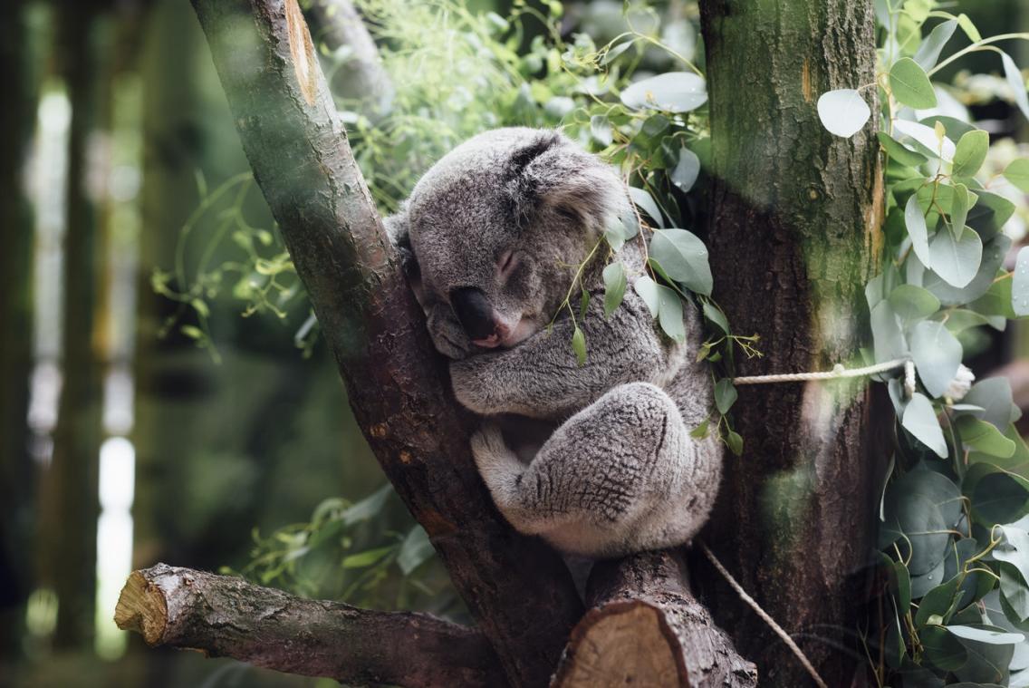
[[[607,605],[572,631],[556,688],[680,686],[689,681],[661,614],[646,603]]]

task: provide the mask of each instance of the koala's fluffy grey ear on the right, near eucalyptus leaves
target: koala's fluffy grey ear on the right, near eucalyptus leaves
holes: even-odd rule
[[[521,219],[551,210],[603,232],[628,205],[614,170],[557,132],[540,132],[511,156],[510,165],[507,191]]]

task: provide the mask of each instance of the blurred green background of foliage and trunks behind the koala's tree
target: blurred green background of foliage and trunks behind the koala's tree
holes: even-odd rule
[[[532,78],[556,36],[627,26],[613,0],[358,4],[388,48],[374,102],[340,80],[359,50],[313,30],[384,212],[463,138],[561,124],[592,87]],[[1029,26],[1026,0],[953,4],[984,35]],[[702,61],[696,4],[651,5],[634,28]],[[355,426],[189,3],[4,7],[0,686],[335,685],[119,631],[126,577],[156,561],[461,618]],[[1018,134],[999,79],[951,78],[954,107]],[[987,368],[1024,347],[984,337]]]

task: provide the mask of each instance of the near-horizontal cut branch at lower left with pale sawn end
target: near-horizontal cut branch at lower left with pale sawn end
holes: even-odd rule
[[[201,650],[341,683],[504,683],[493,649],[475,630],[426,614],[305,599],[163,563],[133,572],[114,620],[151,646]]]

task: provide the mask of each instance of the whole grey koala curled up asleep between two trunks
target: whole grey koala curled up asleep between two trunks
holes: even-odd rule
[[[497,508],[521,532],[591,558],[689,541],[721,477],[718,440],[689,436],[712,399],[699,317],[685,305],[682,344],[658,330],[632,288],[643,242],[614,256],[630,286],[610,318],[607,245],[587,264],[581,366],[559,313],[605,226],[632,212],[598,158],[560,133],[510,128],[445,156],[386,221],[454,393],[483,417],[471,449]]]

